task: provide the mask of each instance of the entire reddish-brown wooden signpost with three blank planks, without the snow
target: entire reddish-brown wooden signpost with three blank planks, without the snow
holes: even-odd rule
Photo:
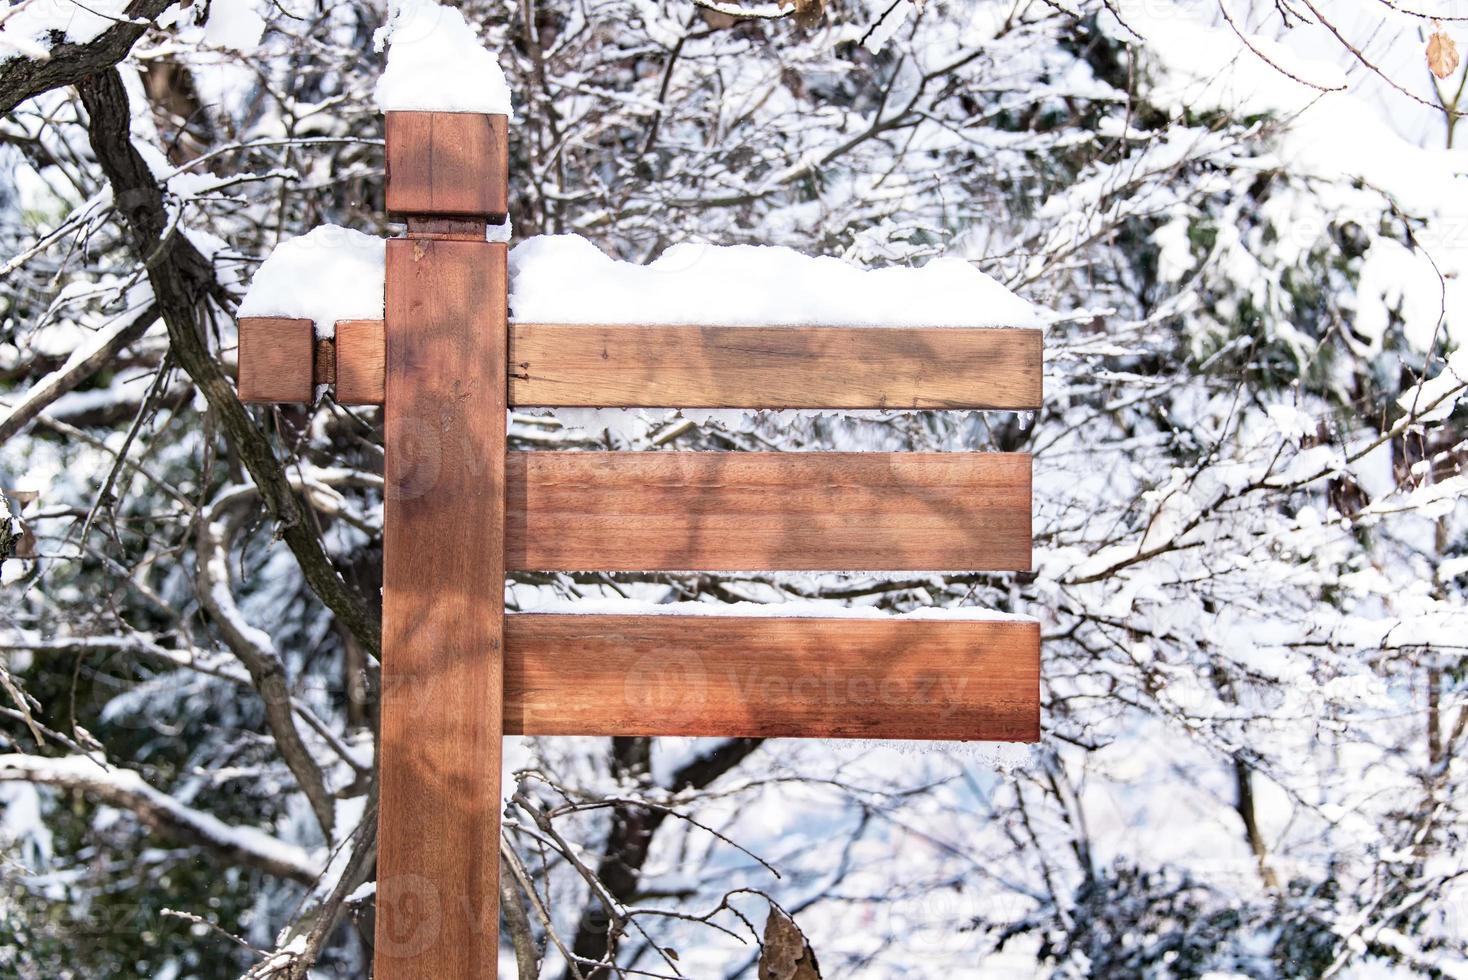
[[[376,976],[496,973],[502,734],[1039,738],[1039,626],[511,615],[506,569],[1031,563],[1022,453],[505,450],[511,406],[1033,409],[1041,333],[508,323],[506,120],[388,113],[385,320],[239,323],[239,395],[386,430]]]

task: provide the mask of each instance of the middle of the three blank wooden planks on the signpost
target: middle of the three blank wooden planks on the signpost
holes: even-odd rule
[[[509,453],[505,475],[512,569],[1023,571],[1031,562],[1023,453],[531,452]]]

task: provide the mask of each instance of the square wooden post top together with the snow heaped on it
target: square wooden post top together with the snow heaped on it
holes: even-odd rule
[[[388,211],[502,223],[511,104],[498,59],[433,0],[395,0],[376,43],[388,44]]]

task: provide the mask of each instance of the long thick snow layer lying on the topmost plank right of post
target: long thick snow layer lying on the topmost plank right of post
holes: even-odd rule
[[[684,242],[637,266],[578,235],[511,249],[509,311],[527,323],[1044,326],[1035,307],[962,258],[863,270],[793,248]]]

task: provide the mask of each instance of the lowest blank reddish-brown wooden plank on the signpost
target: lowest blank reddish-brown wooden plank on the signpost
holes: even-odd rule
[[[1039,739],[1039,625],[505,618],[505,732]]]

